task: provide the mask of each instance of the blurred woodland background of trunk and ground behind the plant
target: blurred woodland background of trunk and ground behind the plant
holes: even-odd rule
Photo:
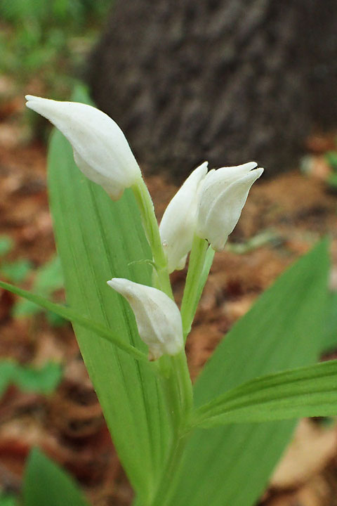
[[[159,219],[199,162],[265,167],[216,255],[187,344],[193,378],[256,297],[326,233],[334,293],[336,29],[335,0],[0,0],[1,279],[65,300],[46,188],[51,126],[25,110],[24,96],[67,100],[82,82],[124,129]],[[184,278],[172,276],[178,301]],[[33,446],[94,506],[129,505],[70,325],[4,291],[0,325],[0,505],[17,504]],[[303,420],[260,505],[333,506],[336,492],[336,424]]]

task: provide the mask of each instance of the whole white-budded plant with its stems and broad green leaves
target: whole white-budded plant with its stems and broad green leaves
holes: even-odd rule
[[[158,227],[138,164],[112,119],[84,105],[83,91],[77,103],[27,99],[71,143],[55,131],[48,156],[69,305],[0,286],[72,321],[135,491],[133,506],[253,506],[296,418],[337,413],[337,361],[315,363],[327,344],[326,240],[234,325],[192,386],[185,340],[215,251],[225,248],[263,169],[249,163],[207,171],[201,164]],[[183,268],[188,254],[178,309],[169,273]],[[78,492],[73,498],[59,470],[47,479],[39,474],[44,458],[32,458],[37,470],[26,474],[25,506],[86,504]]]

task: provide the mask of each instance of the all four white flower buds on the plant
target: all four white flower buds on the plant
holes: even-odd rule
[[[28,108],[49,119],[70,141],[79,169],[113,200],[125,188],[143,183],[128,141],[104,112],[81,103],[26,98]],[[255,162],[211,171],[207,166],[204,162],[190,174],[161,219],[159,234],[168,273],[184,268],[195,235],[216,251],[225,247],[251,186],[263,173]],[[122,278],[107,283],[131,305],[150,359],[183,350],[180,311],[169,294]]]

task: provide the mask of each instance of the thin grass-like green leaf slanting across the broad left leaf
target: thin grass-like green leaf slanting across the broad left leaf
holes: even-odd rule
[[[15,287],[10,283],[0,281],[0,287],[16,295],[20,295],[20,297],[25,297],[25,299],[27,299],[30,304],[34,304],[34,306],[40,306],[44,309],[47,309],[48,311],[51,311],[52,313],[57,314],[58,316],[61,316],[62,318],[65,318],[65,320],[69,320],[72,323],[77,323],[87,330],[95,332],[97,336],[103,337],[103,339],[106,339],[108,342],[111,342],[115,346],[118,346],[119,349],[126,351],[126,353],[129,353],[131,356],[133,356],[133,358],[149,364],[145,353],[135,348],[135,346],[131,346],[127,342],[122,341],[119,335],[114,332],[114,330],[110,330],[104,325],[100,325],[100,323],[89,320],[89,318],[82,316],[73,309],[70,309],[66,306],[60,306],[60,304],[54,304],[48,299],[45,299],[45,297],[41,297],[41,295],[32,294],[31,292],[27,292],[27,290],[23,290],[23,288]]]

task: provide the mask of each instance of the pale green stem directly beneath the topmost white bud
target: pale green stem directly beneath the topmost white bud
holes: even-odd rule
[[[167,271],[167,261],[161,244],[159,234],[159,227],[156,215],[154,214],[154,207],[151,195],[143,178],[139,179],[132,187],[133,195],[136,197],[136,202],[140,209],[140,216],[142,218],[145,235],[152,249],[153,261],[155,266],[155,275],[160,290],[165,292],[171,299],[173,299],[172,287],[170,282],[169,272]]]

